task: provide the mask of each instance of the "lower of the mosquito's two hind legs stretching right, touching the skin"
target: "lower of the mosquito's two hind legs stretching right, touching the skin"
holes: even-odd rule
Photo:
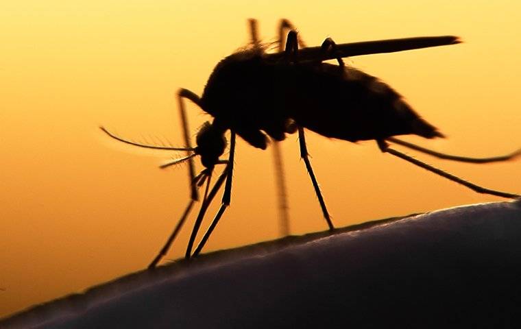
[[[517,195],[517,194],[491,190],[489,188],[484,188],[482,186],[479,186],[479,185],[473,184],[471,182],[468,182],[466,180],[463,180],[455,175],[447,173],[446,171],[432,167],[431,165],[426,164],[420,160],[416,160],[415,158],[412,158],[411,156],[407,156],[407,154],[403,154],[400,151],[396,151],[396,149],[391,149],[391,147],[389,147],[389,145],[387,145],[387,143],[384,140],[377,140],[376,143],[378,143],[378,147],[380,147],[380,150],[383,152],[387,152],[389,154],[392,154],[393,156],[397,156],[398,158],[411,162],[412,164],[415,164],[418,167],[431,171],[437,175],[440,175],[441,177],[447,178],[448,180],[452,180],[452,182],[457,182],[458,184],[466,186],[466,187],[470,188],[472,191],[475,191],[477,193],[496,195],[498,197],[507,197],[510,199],[515,199],[515,198],[521,196],[521,195]]]

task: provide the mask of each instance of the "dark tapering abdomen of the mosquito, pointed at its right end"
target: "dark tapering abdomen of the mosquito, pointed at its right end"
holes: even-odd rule
[[[332,64],[295,66],[291,118],[318,134],[346,141],[402,134],[443,136],[393,88],[362,71]]]

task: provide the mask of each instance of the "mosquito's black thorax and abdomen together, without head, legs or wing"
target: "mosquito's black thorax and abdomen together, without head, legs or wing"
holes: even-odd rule
[[[271,62],[243,51],[222,60],[200,100],[203,110],[245,141],[265,149],[265,132],[282,141],[291,120],[346,141],[400,134],[442,136],[387,84],[362,71],[328,63]]]

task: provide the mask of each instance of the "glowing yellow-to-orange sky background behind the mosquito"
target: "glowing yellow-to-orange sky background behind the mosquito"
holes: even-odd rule
[[[468,156],[521,145],[518,1],[277,2],[3,3],[0,316],[152,260],[188,200],[186,167],[162,171],[158,164],[178,155],[121,145],[97,127],[182,145],[175,90],[200,95],[213,66],[248,41],[249,17],[258,19],[265,41],[274,40],[278,19],[291,19],[308,45],[327,36],[339,43],[461,36],[462,45],[351,62],[395,87],[448,136],[408,141]],[[195,106],[189,117],[193,134],[210,119]],[[309,133],[308,149],[337,226],[500,200],[380,154],[373,141],[355,145]],[[282,150],[293,234],[324,230],[296,135]],[[520,162],[417,158],[489,188],[521,192]],[[239,139],[235,169],[232,206],[206,251],[278,237],[271,151]],[[187,238],[185,230],[167,258],[180,257]]]

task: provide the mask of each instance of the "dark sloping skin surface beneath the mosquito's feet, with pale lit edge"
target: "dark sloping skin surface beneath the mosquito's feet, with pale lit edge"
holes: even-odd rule
[[[178,261],[2,328],[516,328],[521,202],[474,204]]]

